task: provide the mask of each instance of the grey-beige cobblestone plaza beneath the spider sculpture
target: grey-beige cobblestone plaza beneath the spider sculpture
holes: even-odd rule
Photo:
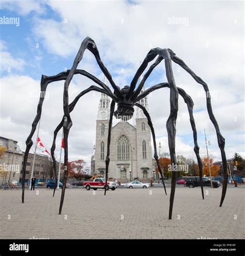
[[[1,238],[245,238],[244,187],[221,189],[177,187],[173,219],[168,219],[170,188],[86,191],[67,189],[62,215],[61,191],[0,191]]]

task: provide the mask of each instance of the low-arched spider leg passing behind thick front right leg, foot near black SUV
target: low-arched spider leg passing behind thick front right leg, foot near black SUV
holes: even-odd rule
[[[163,87],[169,87],[168,83],[160,83],[154,86],[151,86],[150,88],[148,88],[145,92],[143,92],[140,96],[138,96],[135,101],[139,101],[142,98],[145,98],[149,93],[163,88]],[[185,100],[186,104],[187,104],[187,108],[188,108],[188,112],[189,112],[189,116],[190,116],[190,123],[191,123],[191,128],[193,131],[193,139],[194,139],[194,152],[196,155],[196,159],[197,159],[197,163],[198,163],[198,169],[199,169],[199,177],[200,177],[200,184],[201,184],[201,191],[202,191],[202,197],[204,199],[204,191],[203,191],[203,163],[202,163],[202,159],[199,155],[199,146],[197,144],[197,132],[196,132],[196,127],[195,127],[195,120],[193,117],[193,106],[194,103],[190,97],[190,95],[188,95],[183,89],[177,87],[179,94],[181,95],[181,97]]]

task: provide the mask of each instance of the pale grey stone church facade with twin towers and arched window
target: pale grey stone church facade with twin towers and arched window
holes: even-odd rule
[[[145,88],[142,89],[144,91]],[[148,110],[147,98],[141,103]],[[96,144],[91,157],[91,175],[105,177],[105,158],[110,117],[110,98],[101,94],[96,120]],[[112,127],[109,176],[118,181],[152,177],[151,132],[141,109],[136,110],[136,125],[120,121]]]

